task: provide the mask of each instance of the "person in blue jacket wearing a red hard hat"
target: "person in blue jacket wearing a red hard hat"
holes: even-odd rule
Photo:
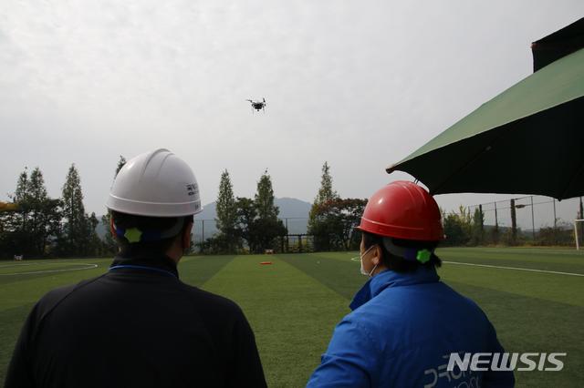
[[[464,360],[466,353],[505,351],[485,313],[436,273],[443,227],[433,197],[412,182],[392,182],[370,198],[358,229],[360,271],[371,279],[308,387],[514,386],[513,372],[495,371],[490,362],[449,368],[452,353]]]

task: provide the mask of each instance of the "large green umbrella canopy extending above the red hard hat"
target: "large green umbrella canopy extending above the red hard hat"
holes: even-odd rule
[[[433,194],[583,196],[584,49],[537,70],[387,168],[395,170]]]

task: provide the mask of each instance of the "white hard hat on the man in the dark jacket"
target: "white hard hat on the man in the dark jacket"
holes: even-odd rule
[[[126,162],[113,182],[106,206],[150,217],[182,217],[203,210],[193,170],[163,148]]]

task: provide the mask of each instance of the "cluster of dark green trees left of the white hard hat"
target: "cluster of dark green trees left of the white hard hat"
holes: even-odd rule
[[[116,175],[126,162],[120,157]],[[40,168],[25,168],[9,196],[16,209],[0,212],[0,258],[95,257],[112,255],[116,244],[109,233],[100,239],[95,212],[88,214],[78,168],[68,168],[59,198],[47,194]],[[101,217],[109,225],[109,215]]]

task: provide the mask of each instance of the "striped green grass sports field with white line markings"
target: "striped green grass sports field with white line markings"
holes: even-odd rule
[[[350,260],[355,255],[186,257],[179,272],[184,282],[242,307],[269,386],[300,387],[366,281],[359,262]],[[563,371],[516,372],[517,386],[584,385],[584,277],[547,272],[584,274],[584,252],[461,248],[441,249],[438,255],[448,261],[439,270],[442,280],[478,302],[507,352],[568,352]],[[273,265],[260,265],[262,260]],[[35,301],[52,288],[97,276],[109,264],[102,259],[0,262],[0,382]]]

